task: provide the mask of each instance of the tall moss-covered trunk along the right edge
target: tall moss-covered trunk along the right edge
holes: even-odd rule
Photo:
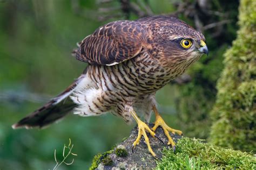
[[[237,39],[225,53],[211,113],[211,142],[235,150],[256,151],[256,1],[241,1]]]

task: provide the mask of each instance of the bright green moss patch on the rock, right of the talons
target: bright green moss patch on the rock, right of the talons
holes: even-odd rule
[[[252,153],[203,143],[200,139],[178,140],[176,153],[164,150],[156,169],[255,169],[256,157]]]

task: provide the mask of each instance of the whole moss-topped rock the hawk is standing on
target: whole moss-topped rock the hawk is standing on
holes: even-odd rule
[[[152,124],[150,125],[152,126]],[[234,151],[230,148],[224,148],[207,144],[205,140],[191,139],[181,137],[177,134],[171,134],[176,141],[176,152],[172,147],[166,145],[167,138],[164,131],[158,128],[156,133],[164,141],[149,136],[151,147],[154,152],[161,157],[156,160],[147,150],[147,145],[143,142],[136,146],[134,153],[131,147],[137,137],[137,127],[134,128],[125,141],[119,144],[113,150],[97,155],[93,160],[90,169],[255,169],[256,157],[253,153]],[[120,157],[116,153],[122,148],[127,151],[126,157]],[[107,164],[106,164],[107,162]],[[111,163],[111,164],[109,164]]]

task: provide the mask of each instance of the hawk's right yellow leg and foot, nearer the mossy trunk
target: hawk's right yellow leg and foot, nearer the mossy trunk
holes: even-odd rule
[[[152,128],[153,131],[156,131],[157,127],[158,126],[161,126],[164,130],[164,133],[165,133],[165,136],[168,138],[168,143],[167,145],[172,145],[172,148],[173,148],[173,151],[175,151],[175,143],[174,141],[172,140],[169,132],[172,132],[173,134],[174,133],[178,133],[179,135],[182,134],[182,132],[180,130],[176,130],[176,129],[172,129],[170,128],[165,122],[164,122],[164,119],[161,118],[161,116],[159,115],[158,111],[157,111],[157,108],[156,106],[153,106],[153,111],[154,113],[156,114],[156,122],[154,122],[154,127]]]

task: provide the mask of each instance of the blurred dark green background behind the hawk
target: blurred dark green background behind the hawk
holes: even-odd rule
[[[70,114],[43,130],[11,128],[83,72],[86,63],[71,56],[76,42],[118,19],[173,13],[204,33],[210,56],[188,70],[191,81],[159,90],[157,101],[171,127],[185,136],[207,138],[211,124],[207,114],[217,93],[222,55],[237,31],[238,5],[217,0],[0,0],[0,169],[52,169],[55,149],[62,159],[69,138],[78,156],[72,165],[59,169],[87,169],[94,155],[129,136],[135,124],[126,125],[110,114],[86,118]]]

